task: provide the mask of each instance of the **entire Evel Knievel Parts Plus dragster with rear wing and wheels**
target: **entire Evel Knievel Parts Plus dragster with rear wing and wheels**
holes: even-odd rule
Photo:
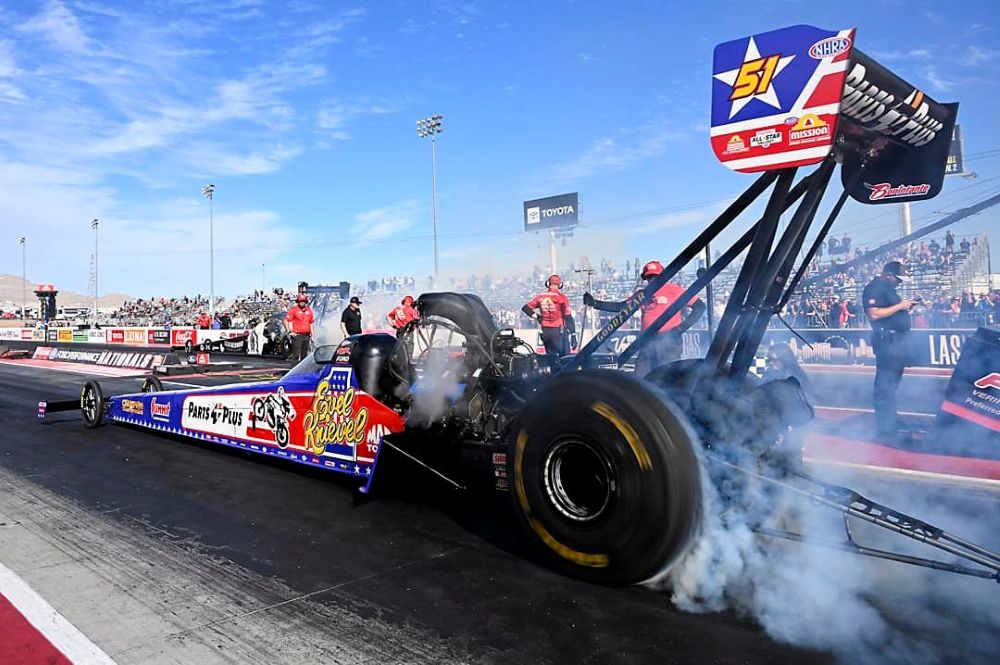
[[[39,417],[79,406],[90,427],[111,420],[281,457],[356,476],[366,493],[379,465],[395,456],[455,488],[509,493],[525,533],[554,568],[604,584],[658,578],[697,541],[703,464],[717,484],[736,473],[845,520],[841,542],[758,525],[761,535],[1000,581],[1000,556],[986,548],[776,462],[789,457],[775,453],[787,453],[791,430],[813,408],[794,379],[760,383],[748,373],[768,322],[849,197],[920,201],[941,188],[958,105],[914,89],[854,48],[854,39],[854,30],[800,25],[716,48],[713,150],[735,170],[762,173],[575,356],[536,354],[498,329],[476,296],[428,293],[416,303],[420,319],[397,337],[357,335],[317,348],[278,381],[184,391],[154,381],[148,392],[108,398],[89,382],[79,402],[42,403]],[[767,103],[757,99],[775,91]],[[806,247],[838,163],[843,191]],[[809,165],[815,171],[795,183]],[[647,332],[618,357],[597,353],[768,190],[760,218]],[[779,233],[780,216],[793,206]],[[744,252],[705,358],[645,377],[608,369],[641,352]],[[849,518],[965,563],[862,546]]]

